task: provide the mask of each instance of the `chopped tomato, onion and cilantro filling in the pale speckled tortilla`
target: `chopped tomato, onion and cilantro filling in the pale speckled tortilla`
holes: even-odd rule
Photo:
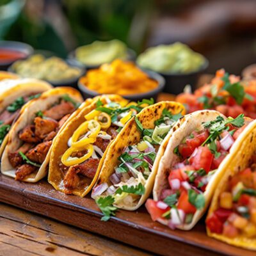
[[[162,189],[159,201],[146,203],[152,220],[172,229],[191,223],[195,212],[204,209],[207,184],[246,127],[243,114],[235,119],[217,116],[202,125],[175,147],[179,161],[167,170],[168,187]]]

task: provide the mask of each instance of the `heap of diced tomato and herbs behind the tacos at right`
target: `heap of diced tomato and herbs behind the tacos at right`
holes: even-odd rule
[[[256,81],[243,82],[238,76],[229,75],[224,69],[216,72],[211,83],[194,93],[184,92],[176,100],[186,106],[187,113],[202,109],[216,109],[225,116],[256,118]]]

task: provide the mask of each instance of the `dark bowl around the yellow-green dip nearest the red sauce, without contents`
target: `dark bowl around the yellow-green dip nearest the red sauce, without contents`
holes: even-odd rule
[[[68,80],[63,80],[63,81],[47,81],[48,83],[52,84],[52,86],[57,87],[57,86],[71,86],[77,89],[77,82],[78,79],[81,76],[84,76],[84,74],[86,73],[86,68],[84,67],[84,65],[81,65],[81,63],[79,63],[76,60],[64,60],[67,62],[68,65],[70,65],[70,67],[77,67],[81,70],[81,74],[77,77],[74,77],[72,79],[68,79]],[[9,72],[13,72],[15,73],[15,70],[11,67],[8,68]]]

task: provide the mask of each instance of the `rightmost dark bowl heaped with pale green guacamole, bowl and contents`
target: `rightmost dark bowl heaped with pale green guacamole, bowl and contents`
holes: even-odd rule
[[[150,47],[138,56],[136,63],[164,76],[164,92],[173,94],[182,92],[187,84],[195,89],[198,76],[209,65],[202,54],[180,42]]]

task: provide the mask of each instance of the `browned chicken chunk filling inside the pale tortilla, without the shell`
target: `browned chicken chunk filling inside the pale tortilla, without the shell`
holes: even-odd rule
[[[78,106],[78,102],[63,95],[51,108],[35,113],[33,124],[19,131],[18,136],[23,144],[15,152],[8,153],[10,163],[17,169],[15,180],[24,180],[40,168],[52,140]]]

